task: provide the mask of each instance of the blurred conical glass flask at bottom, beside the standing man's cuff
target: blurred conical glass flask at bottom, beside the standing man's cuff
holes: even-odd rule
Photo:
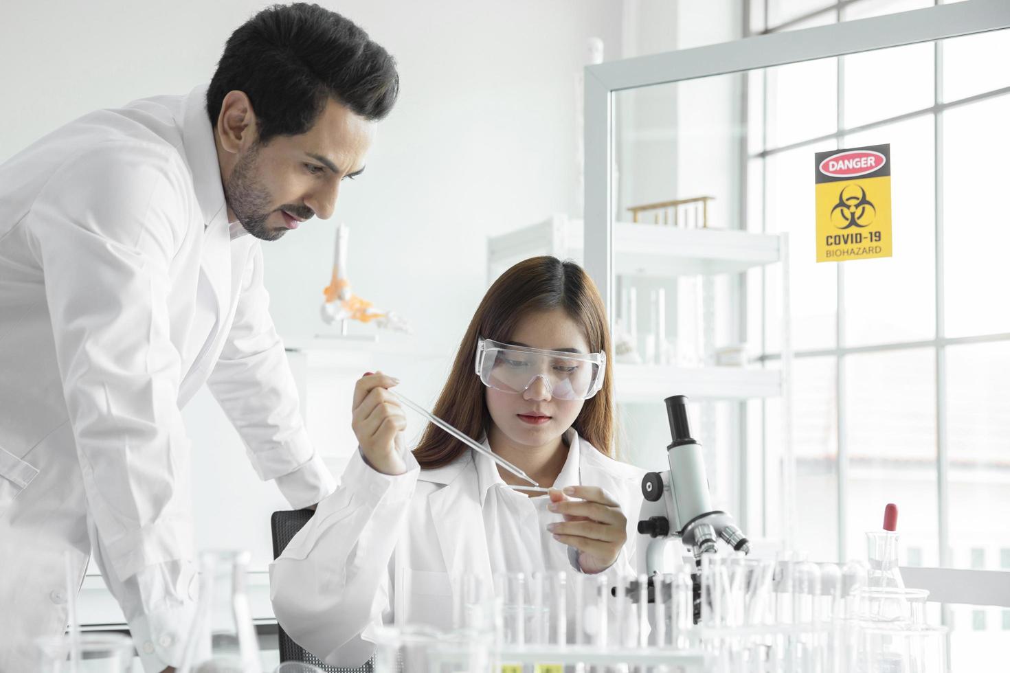
[[[245,594],[248,552],[200,555],[200,596],[180,673],[245,673],[261,668]]]

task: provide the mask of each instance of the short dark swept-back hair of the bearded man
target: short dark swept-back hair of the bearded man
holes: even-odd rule
[[[382,119],[400,77],[393,57],[354,21],[298,2],[268,7],[231,33],[207,90],[211,126],[236,90],[249,97],[267,142],[308,131],[330,98],[365,119]]]

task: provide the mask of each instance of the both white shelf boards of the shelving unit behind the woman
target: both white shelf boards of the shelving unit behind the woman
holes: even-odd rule
[[[782,262],[787,254],[781,236],[728,229],[616,222],[612,240],[614,275],[626,277],[711,277],[739,273]],[[515,262],[538,254],[582,262],[583,221],[554,215],[543,222],[490,237],[489,285]],[[741,401],[783,394],[783,375],[779,370],[750,367],[618,363],[614,378],[617,401],[626,404],[662,400],[670,395],[672,384],[680,394],[706,401]]]

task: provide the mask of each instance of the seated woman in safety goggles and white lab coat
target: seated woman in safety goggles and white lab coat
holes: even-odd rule
[[[271,566],[274,610],[327,663],[360,665],[369,630],[447,628],[465,573],[630,573],[643,471],[613,454],[603,302],[573,262],[534,257],[488,291],[434,414],[549,487],[521,479],[434,426],[404,450],[404,412],[382,373],[355,389],[360,448],[341,486]]]

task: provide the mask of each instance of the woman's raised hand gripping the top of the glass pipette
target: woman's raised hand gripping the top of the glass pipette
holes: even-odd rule
[[[350,427],[366,461],[384,474],[403,474],[407,471],[396,447],[397,433],[407,428],[407,418],[387,389],[399,382],[379,371],[365,374],[355,384]]]

